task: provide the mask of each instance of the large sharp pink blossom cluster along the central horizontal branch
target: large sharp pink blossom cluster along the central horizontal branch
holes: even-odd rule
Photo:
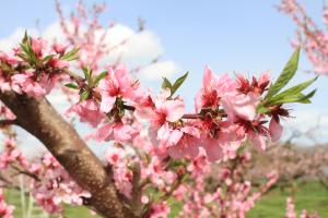
[[[257,110],[269,83],[268,74],[251,81],[243,75],[233,80],[227,75],[219,77],[206,68],[203,85],[196,97],[198,117],[189,119],[184,100],[173,97],[169,88],[156,97],[142,92],[128,70],[119,65],[109,68],[87,99],[72,106],[68,114],[75,112],[81,121],[94,128],[101,125],[93,135],[95,140],[118,143],[131,143],[140,133],[138,123],[149,122],[157,156],[194,159],[202,147],[209,160],[216,161],[224,154],[234,156],[243,142],[249,141],[265,150],[266,140],[280,138],[280,117],[288,117],[288,110],[281,106],[271,107],[267,114]]]

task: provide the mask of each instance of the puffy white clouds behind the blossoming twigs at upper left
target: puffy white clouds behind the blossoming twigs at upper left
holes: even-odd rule
[[[68,26],[69,28],[71,27],[70,25]],[[24,28],[19,27],[12,35],[0,39],[0,49],[9,51],[12,47],[16,46],[22,39],[24,32]],[[42,37],[48,41],[52,41],[55,38],[58,41],[63,39],[62,31],[58,22],[50,24],[39,34],[34,28],[27,29],[27,32],[33,36],[39,36],[40,34]],[[101,38],[103,33],[103,29],[96,31],[96,40]],[[132,28],[126,25],[116,24],[108,31],[105,43],[109,48],[112,48],[125,39],[128,39],[126,44],[119,46],[118,49],[114,49],[108,53],[108,56],[99,60],[102,65],[110,64],[120,57],[122,63],[128,65],[130,69],[141,66],[143,70],[139,75],[141,75],[142,80],[145,81],[161,80],[162,75],[172,75],[180,70],[180,68],[172,60],[159,61],[153,65],[151,64],[151,62],[161,57],[164,51],[160,38],[154,33],[150,31],[136,33]]]

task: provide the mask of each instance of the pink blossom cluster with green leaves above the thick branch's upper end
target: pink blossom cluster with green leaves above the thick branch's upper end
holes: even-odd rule
[[[49,47],[42,38],[25,37],[12,53],[0,51],[0,89],[13,90],[42,97],[50,93],[61,80],[61,70],[68,66],[68,60],[74,53],[65,55],[66,48]]]

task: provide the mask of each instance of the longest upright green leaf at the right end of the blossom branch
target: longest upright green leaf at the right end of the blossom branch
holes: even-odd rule
[[[281,88],[283,88],[290,80],[295,75],[298,65],[298,57],[300,57],[300,47],[294,51],[289,62],[284,66],[282,73],[279,75],[278,80],[273,85],[270,86],[268,94],[265,99],[269,100],[272,96],[274,96]]]

